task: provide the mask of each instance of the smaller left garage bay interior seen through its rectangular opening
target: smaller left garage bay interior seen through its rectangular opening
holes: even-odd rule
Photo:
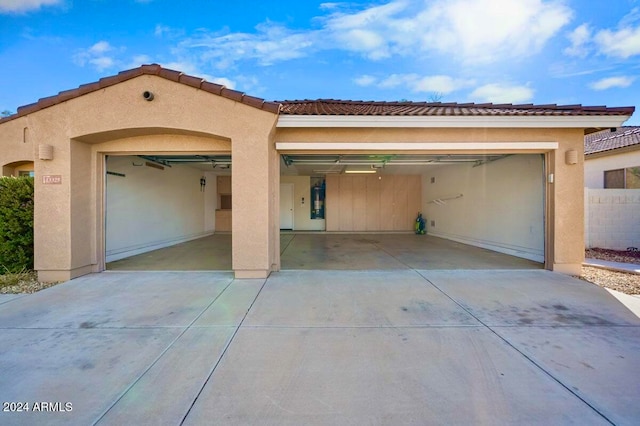
[[[106,158],[110,270],[231,270],[230,155]]]

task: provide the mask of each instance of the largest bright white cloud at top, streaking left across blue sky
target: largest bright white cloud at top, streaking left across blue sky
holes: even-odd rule
[[[316,29],[266,21],[251,32],[199,30],[174,53],[219,70],[242,61],[269,66],[330,50],[371,60],[440,55],[464,65],[493,64],[536,54],[572,16],[562,0],[392,0],[363,10],[354,7],[323,3],[326,14],[313,20]],[[157,25],[155,35],[171,31]]]

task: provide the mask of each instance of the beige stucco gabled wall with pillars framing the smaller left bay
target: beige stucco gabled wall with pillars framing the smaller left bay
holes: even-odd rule
[[[154,93],[152,102],[144,100],[144,91]],[[268,202],[277,197],[272,181],[278,177],[271,179],[269,167],[269,159],[276,158],[271,143],[276,120],[272,112],[143,75],[4,122],[0,164],[35,159],[35,268],[40,279],[66,280],[104,267],[104,155],[234,150],[242,154],[234,158],[234,169],[245,177],[234,176],[240,182],[234,189],[234,222],[265,229],[234,232],[234,262],[240,261],[234,269],[266,276],[277,249],[276,233],[266,231],[277,211]],[[37,159],[40,144],[53,146],[53,160]],[[43,184],[44,175],[60,176],[61,183]],[[199,176],[199,189],[198,181]],[[263,194],[265,209],[256,209],[256,191]]]

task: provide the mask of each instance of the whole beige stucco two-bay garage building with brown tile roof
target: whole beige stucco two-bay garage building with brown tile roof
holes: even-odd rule
[[[207,252],[215,245],[207,239],[217,236],[227,238],[219,245],[224,268],[238,279],[302,267],[288,253],[305,247],[325,266],[369,248],[374,266],[440,259],[495,267],[466,264],[479,258],[473,248],[577,274],[584,136],[620,127],[633,112],[266,101],[152,64],[1,119],[0,164],[33,162],[34,267],[42,281],[201,242],[160,262],[195,268],[194,253],[222,259]],[[233,163],[219,173],[212,160],[222,159],[208,156],[222,155]],[[418,211],[426,235],[412,233]],[[468,251],[456,256],[461,247]],[[431,263],[419,264],[424,258]]]

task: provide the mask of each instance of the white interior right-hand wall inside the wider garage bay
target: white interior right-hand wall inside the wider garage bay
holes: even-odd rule
[[[478,167],[435,167],[423,176],[422,188],[429,234],[544,261],[540,155],[514,155]],[[433,202],[460,194],[444,204]]]

